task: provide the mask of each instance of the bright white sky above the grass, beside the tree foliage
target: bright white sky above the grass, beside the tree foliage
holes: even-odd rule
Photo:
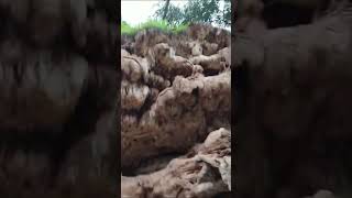
[[[148,16],[153,16],[156,11],[156,4],[160,0],[122,0],[121,1],[121,18],[122,21],[131,25],[136,25],[145,22]],[[174,6],[184,6],[185,0],[172,1]]]

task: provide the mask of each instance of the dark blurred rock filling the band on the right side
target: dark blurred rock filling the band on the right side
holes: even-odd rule
[[[352,4],[308,24],[272,14],[252,15],[232,48],[238,197],[351,195]]]

